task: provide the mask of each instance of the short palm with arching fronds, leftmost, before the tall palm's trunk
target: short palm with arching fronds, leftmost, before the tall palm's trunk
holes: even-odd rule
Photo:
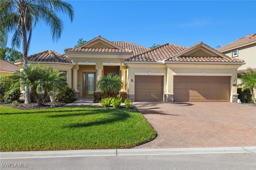
[[[37,93],[37,87],[40,83],[42,66],[36,65],[36,67],[32,67],[32,65],[28,64],[23,71],[15,71],[14,72],[14,87],[20,88],[29,86],[31,88],[30,91],[30,99],[34,100],[34,97],[37,97],[37,102],[39,103],[39,96]]]

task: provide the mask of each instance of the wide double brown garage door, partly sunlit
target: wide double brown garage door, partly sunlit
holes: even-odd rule
[[[230,77],[174,76],[174,101],[230,101]]]

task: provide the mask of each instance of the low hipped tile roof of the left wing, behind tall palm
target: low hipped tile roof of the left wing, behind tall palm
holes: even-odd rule
[[[15,62],[20,62],[21,59],[16,60]],[[66,54],[60,55],[59,53],[46,50],[40,53],[36,53],[28,56],[28,61],[36,61],[36,62],[61,62],[61,63],[72,63],[73,61],[68,58]]]

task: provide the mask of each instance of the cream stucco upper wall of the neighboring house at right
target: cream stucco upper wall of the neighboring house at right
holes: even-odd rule
[[[244,70],[248,67],[256,68],[256,44],[249,45],[238,49],[238,56],[234,58],[242,59],[245,61],[245,65],[242,65],[238,70]],[[228,57],[232,57],[232,50],[224,52]]]

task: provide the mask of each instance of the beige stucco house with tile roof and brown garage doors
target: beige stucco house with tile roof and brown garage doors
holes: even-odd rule
[[[28,57],[66,71],[77,97],[93,98],[103,75],[117,74],[132,101],[237,100],[237,69],[243,60],[230,58],[199,42],[191,47],[172,43],[149,49],[130,42],[110,42],[98,36],[60,55],[48,50]],[[22,67],[21,61],[16,65]]]

